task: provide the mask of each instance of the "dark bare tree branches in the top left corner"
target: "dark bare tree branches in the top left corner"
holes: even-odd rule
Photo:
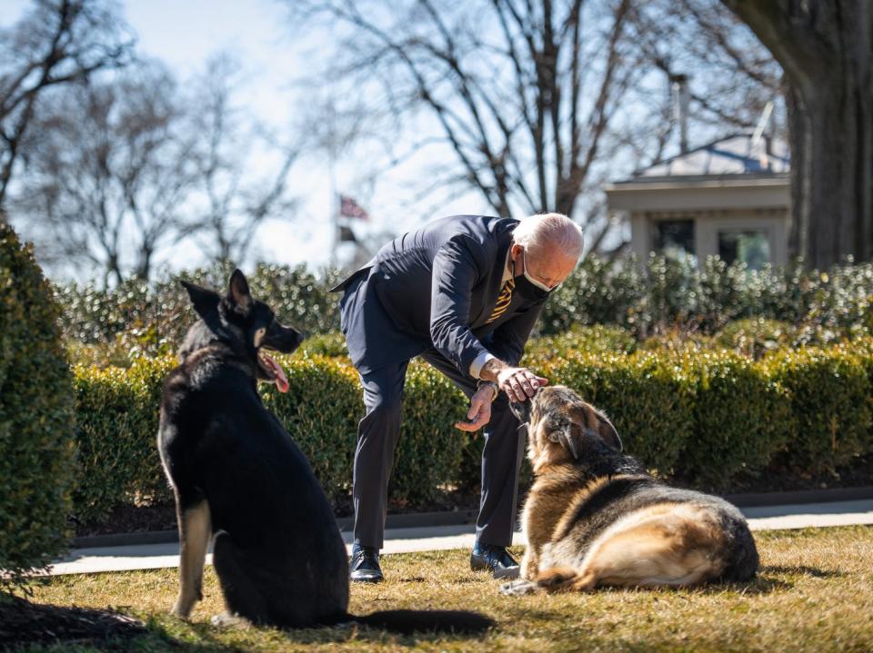
[[[38,98],[129,63],[133,43],[114,6],[102,0],[35,0],[0,32],[0,221]]]

